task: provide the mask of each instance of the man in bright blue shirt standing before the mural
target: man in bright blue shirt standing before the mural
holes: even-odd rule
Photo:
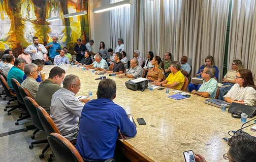
[[[61,50],[60,45],[57,43],[57,37],[54,36],[52,38],[52,42],[48,43],[45,48],[49,48],[49,60],[51,60],[52,64],[54,61],[55,56],[59,54],[59,51]]]

